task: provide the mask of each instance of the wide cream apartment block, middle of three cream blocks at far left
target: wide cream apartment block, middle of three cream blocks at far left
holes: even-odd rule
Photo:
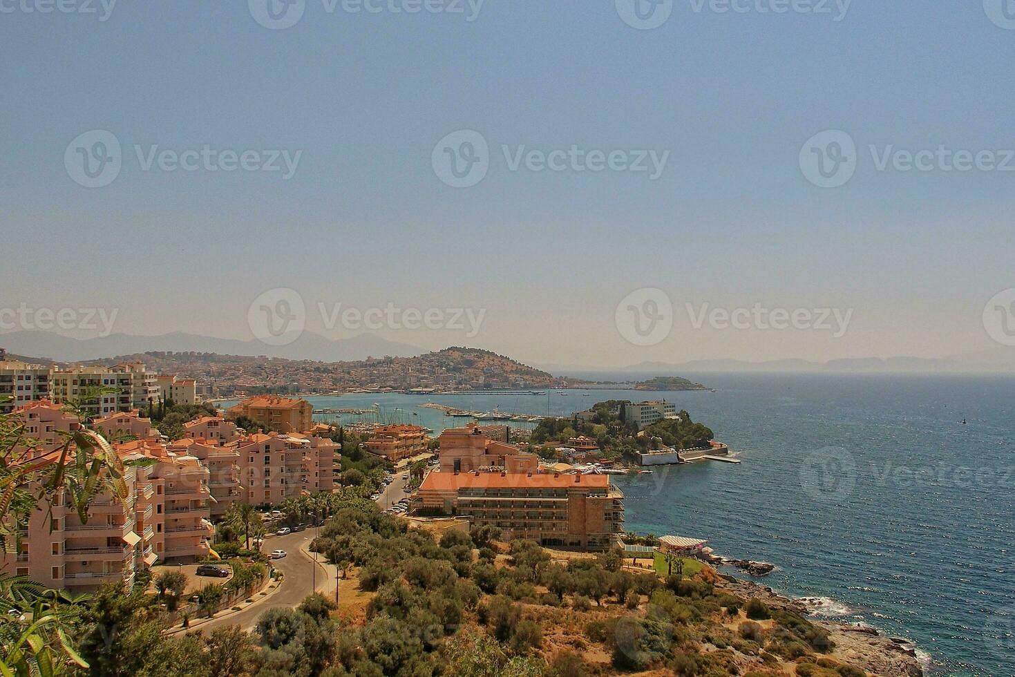
[[[77,403],[92,416],[144,409],[158,401],[155,375],[145,369],[143,362],[54,369],[51,379],[54,402]],[[88,390],[95,388],[116,389],[118,392],[88,397],[85,401]]]

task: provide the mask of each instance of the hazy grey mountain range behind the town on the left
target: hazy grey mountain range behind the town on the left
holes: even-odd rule
[[[284,346],[268,346],[257,340],[241,341],[211,336],[197,336],[174,332],[160,336],[135,336],[111,334],[91,339],[74,339],[52,332],[21,331],[0,334],[0,347],[10,353],[48,357],[58,361],[78,362],[104,359],[115,355],[160,352],[213,352],[223,355],[257,357],[270,355],[284,359],[313,359],[341,362],[366,357],[413,357],[425,350],[406,343],[388,341],[370,334],[359,334],[347,339],[328,339],[320,334],[303,334]]]

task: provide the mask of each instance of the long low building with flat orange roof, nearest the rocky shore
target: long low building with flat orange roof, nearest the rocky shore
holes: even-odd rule
[[[507,540],[599,551],[623,532],[623,497],[607,475],[442,470],[426,476],[412,507],[467,517]]]

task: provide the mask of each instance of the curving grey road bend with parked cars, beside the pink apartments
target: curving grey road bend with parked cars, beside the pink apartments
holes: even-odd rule
[[[318,590],[325,589],[330,582],[325,581],[327,573],[321,564],[315,564],[314,560],[299,550],[299,546],[309,545],[314,539],[314,529],[308,529],[296,534],[285,536],[270,536],[265,539],[264,549],[267,552],[272,550],[285,550],[288,553],[281,559],[272,559],[271,563],[285,577],[279,589],[272,593],[271,597],[262,603],[254,604],[250,609],[245,609],[228,616],[214,618],[206,623],[196,626],[195,630],[213,630],[224,625],[240,625],[244,629],[250,630],[257,624],[258,617],[273,607],[284,607],[291,609],[303,601],[308,595],[314,592],[314,568],[317,567]],[[323,559],[323,558],[322,558]],[[267,589],[266,589],[267,590]],[[330,586],[332,593],[335,586]]]

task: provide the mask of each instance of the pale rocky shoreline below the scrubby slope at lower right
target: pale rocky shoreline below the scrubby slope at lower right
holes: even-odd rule
[[[801,600],[784,597],[767,586],[722,574],[722,587],[745,599],[757,598],[769,608],[802,616],[810,609]],[[880,677],[924,677],[916,646],[901,637],[889,637],[870,625],[810,619],[826,629],[835,642],[833,656]]]

